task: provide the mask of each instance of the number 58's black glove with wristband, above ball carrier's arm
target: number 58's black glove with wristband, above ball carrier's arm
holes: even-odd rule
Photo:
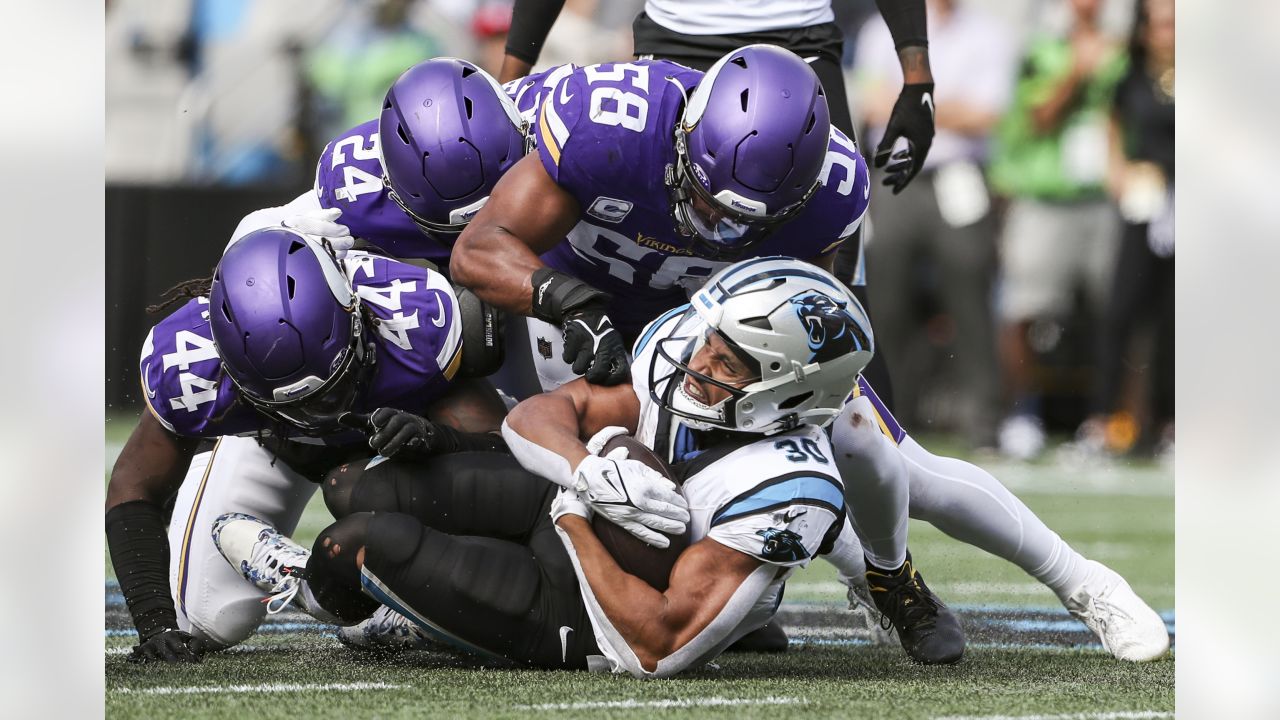
[[[631,359],[622,336],[604,314],[612,297],[582,281],[539,268],[534,286],[534,316],[564,331],[563,360],[586,382],[616,386],[631,377]]]

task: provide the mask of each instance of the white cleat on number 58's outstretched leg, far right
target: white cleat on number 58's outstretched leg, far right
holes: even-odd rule
[[[1147,662],[1169,650],[1165,621],[1119,573],[1089,560],[1084,583],[1062,605],[1102,641],[1117,660]]]

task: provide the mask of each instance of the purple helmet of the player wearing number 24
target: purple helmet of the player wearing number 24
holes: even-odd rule
[[[525,155],[525,124],[489,73],[456,58],[404,70],[378,118],[383,183],[426,234],[452,242]]]

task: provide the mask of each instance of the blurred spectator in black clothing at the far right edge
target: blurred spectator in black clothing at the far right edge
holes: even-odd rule
[[[1108,186],[1124,232],[1103,315],[1091,416],[1078,439],[1089,450],[1171,451],[1174,430],[1174,0],[1137,0],[1129,70],[1116,88]],[[1148,413],[1121,410],[1125,357],[1138,320],[1155,324],[1146,373]],[[1143,416],[1143,415],[1148,415]],[[1143,437],[1138,428],[1146,427]]]

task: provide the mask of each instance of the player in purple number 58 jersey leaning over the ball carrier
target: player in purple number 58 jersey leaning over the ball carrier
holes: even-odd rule
[[[584,373],[622,382],[643,323],[728,261],[777,254],[831,269],[870,183],[852,142],[824,127],[824,104],[812,70],[772,46],[735,50],[705,76],[660,60],[576,69],[541,101],[536,158],[503,176],[458,237],[453,277],[531,316],[544,389]],[[1160,616],[1119,574],[987,471],[923,448],[865,380],[832,441],[867,551],[867,583],[854,577],[863,605],[869,587],[895,624],[931,621],[899,592],[914,578],[910,511],[1048,585],[1116,657],[1167,648]]]

